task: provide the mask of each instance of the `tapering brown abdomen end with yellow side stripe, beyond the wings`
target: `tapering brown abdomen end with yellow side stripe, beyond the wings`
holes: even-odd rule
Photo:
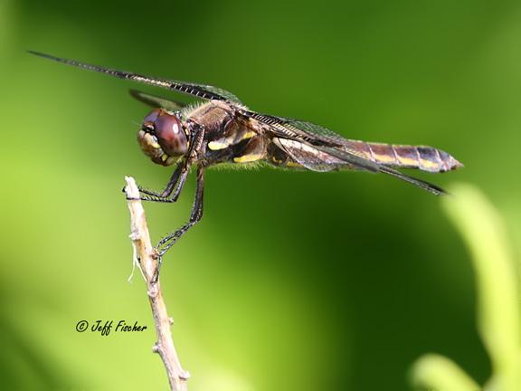
[[[438,148],[355,140],[350,140],[347,145],[374,163],[388,167],[419,168],[423,171],[445,172],[463,166],[450,154]]]

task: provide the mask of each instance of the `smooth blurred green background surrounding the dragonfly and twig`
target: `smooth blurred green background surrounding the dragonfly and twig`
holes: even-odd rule
[[[5,389],[166,389],[123,176],[164,186],[129,88],[33,49],[213,84],[347,138],[426,144],[466,167],[521,243],[521,5],[515,1],[0,1]],[[185,222],[146,205],[155,241]],[[391,177],[209,171],[201,224],[166,256],[191,390],[399,390],[425,352],[483,382],[469,255],[440,199]],[[143,333],[78,333],[81,319]]]

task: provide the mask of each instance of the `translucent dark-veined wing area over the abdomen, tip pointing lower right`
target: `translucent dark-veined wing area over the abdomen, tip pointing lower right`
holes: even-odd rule
[[[311,122],[298,119],[284,119],[249,110],[242,110],[242,114],[267,125],[276,138],[278,138],[274,141],[276,145],[282,146],[282,149],[290,157],[293,157],[298,163],[308,169],[330,171],[348,165],[365,171],[381,172],[397,177],[437,196],[447,194],[439,186],[368,160],[356,149],[349,148],[346,138],[327,128]],[[286,141],[281,141],[284,138],[286,138]],[[302,144],[302,146],[297,147],[295,142]],[[310,149],[316,149],[317,152],[322,152],[327,157],[321,158],[319,153],[310,154]],[[310,155],[313,155],[313,157],[309,159]],[[327,168],[328,166],[330,168]]]

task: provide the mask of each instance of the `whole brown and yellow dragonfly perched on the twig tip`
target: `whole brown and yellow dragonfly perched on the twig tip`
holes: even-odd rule
[[[140,148],[160,166],[175,165],[162,191],[139,187],[140,199],[175,203],[191,167],[196,168],[194,205],[190,218],[186,224],[157,243],[159,260],[203,217],[204,170],[207,167],[251,167],[263,164],[317,172],[360,170],[394,176],[437,196],[447,193],[439,186],[403,174],[399,169],[416,168],[442,173],[462,167],[458,160],[439,148],[347,139],[311,122],[262,114],[250,110],[232,92],[210,85],[160,79],[42,52],[29,52],[119,79],[182,92],[201,100],[186,105],[130,90],[134,98],[152,108],[137,131]]]

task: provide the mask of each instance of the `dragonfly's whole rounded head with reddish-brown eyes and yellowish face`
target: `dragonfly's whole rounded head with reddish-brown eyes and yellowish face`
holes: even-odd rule
[[[171,166],[188,150],[188,137],[176,113],[155,109],[143,119],[137,132],[139,146],[152,161]]]

